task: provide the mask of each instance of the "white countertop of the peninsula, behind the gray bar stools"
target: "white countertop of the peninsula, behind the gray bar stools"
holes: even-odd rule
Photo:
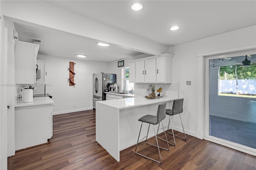
[[[130,97],[125,99],[97,101],[96,103],[101,103],[117,109],[127,109],[130,107],[138,107],[138,106],[150,105],[154,103],[162,103],[165,101],[172,101],[175,99],[178,99],[178,98],[157,97],[156,99],[146,99],[145,97]]]

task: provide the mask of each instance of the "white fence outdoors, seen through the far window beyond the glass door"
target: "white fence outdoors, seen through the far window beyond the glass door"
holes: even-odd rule
[[[256,80],[238,80],[238,92],[240,94],[256,95]],[[219,93],[236,93],[236,80],[220,80]]]

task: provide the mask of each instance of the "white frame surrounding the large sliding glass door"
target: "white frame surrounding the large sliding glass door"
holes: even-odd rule
[[[198,53],[198,129],[197,137],[200,139],[206,139],[230,148],[252,154],[256,156],[256,149],[243,146],[234,142],[216,138],[209,135],[209,89],[208,89],[208,63],[209,59],[214,57],[220,57],[220,55],[236,55],[244,53],[245,51],[256,52],[256,43],[249,45],[242,45],[238,47],[231,47],[227,49],[220,49],[216,51],[209,51],[204,53]],[[236,53],[236,54],[234,54]]]

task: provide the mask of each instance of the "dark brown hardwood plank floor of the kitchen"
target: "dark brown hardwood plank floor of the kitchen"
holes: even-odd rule
[[[163,137],[164,134],[160,135]],[[155,139],[149,141],[153,143]],[[165,147],[164,143],[160,144]],[[143,142],[138,145],[138,150],[158,159],[158,150],[154,146]],[[8,169],[256,170],[255,156],[190,135],[186,141],[176,138],[176,146],[170,146],[169,152],[160,150],[162,164],[135,155],[134,151],[135,146],[122,150],[120,162],[116,162],[95,141],[95,111],[81,111],[54,115],[50,142],[16,152],[8,158]]]

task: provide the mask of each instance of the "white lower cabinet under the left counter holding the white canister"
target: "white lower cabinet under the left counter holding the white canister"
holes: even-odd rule
[[[15,150],[52,138],[52,104],[15,107]]]

